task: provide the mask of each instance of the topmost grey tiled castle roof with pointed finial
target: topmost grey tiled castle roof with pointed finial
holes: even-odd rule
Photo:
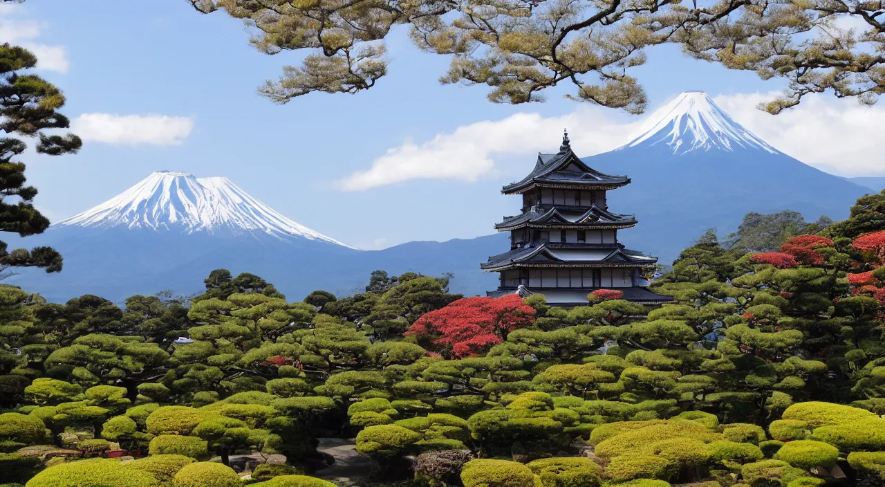
[[[504,194],[519,194],[535,186],[549,188],[615,189],[627,185],[630,178],[604,174],[584,164],[572,151],[568,134],[556,154],[538,153],[535,169],[519,182],[504,186]]]

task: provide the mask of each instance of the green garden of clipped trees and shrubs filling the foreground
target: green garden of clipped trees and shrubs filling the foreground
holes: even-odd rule
[[[339,437],[364,485],[882,485],[885,193],[805,229],[706,234],[657,308],[383,272],[296,301],[218,270],[123,308],[0,287],[0,484],[329,487]]]

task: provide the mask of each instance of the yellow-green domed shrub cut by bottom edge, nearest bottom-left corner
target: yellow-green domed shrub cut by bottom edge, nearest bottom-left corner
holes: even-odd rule
[[[27,487],[159,487],[147,472],[126,468],[118,460],[95,459],[61,463],[27,482]]]

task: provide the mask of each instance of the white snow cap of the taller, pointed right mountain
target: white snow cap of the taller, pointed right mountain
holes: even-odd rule
[[[653,112],[632,142],[620,147],[667,145],[675,155],[690,151],[753,149],[780,153],[754,135],[701,91],[687,91]]]

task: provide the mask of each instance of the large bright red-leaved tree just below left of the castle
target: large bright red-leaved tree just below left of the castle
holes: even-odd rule
[[[462,298],[421,316],[404,335],[415,336],[425,348],[460,358],[486,352],[512,330],[534,322],[535,308],[515,294]]]

